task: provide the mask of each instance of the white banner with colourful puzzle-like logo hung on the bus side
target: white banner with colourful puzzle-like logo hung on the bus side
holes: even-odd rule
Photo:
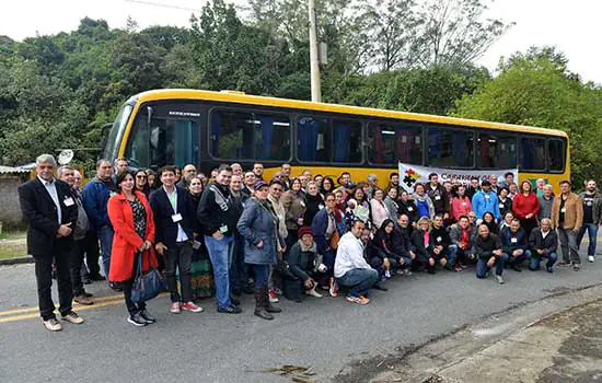
[[[471,177],[473,176],[477,176],[479,179],[483,181],[485,178],[489,178],[489,176],[491,175],[495,175],[498,177],[498,182],[502,182],[503,175],[509,172],[514,174],[514,181],[519,179],[518,169],[484,169],[481,171],[463,171],[459,169],[417,166],[400,162],[400,185],[408,193],[414,193],[414,185],[416,185],[417,183],[428,183],[428,175],[431,173],[437,173],[439,175],[440,184],[449,181],[452,184],[462,184],[468,186],[471,184]]]

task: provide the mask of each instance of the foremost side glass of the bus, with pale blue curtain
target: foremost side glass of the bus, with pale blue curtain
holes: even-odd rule
[[[198,124],[189,119],[136,118],[126,156],[135,167],[184,166],[198,161]]]

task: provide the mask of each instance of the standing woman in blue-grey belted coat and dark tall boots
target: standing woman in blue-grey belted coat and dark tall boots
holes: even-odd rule
[[[246,204],[236,228],[244,239],[244,262],[253,269],[255,279],[255,315],[264,320],[274,320],[270,313],[279,313],[282,310],[269,302],[269,268],[278,259],[277,241],[280,242],[280,246],[286,245],[276,230],[278,217],[267,200],[268,190],[269,187],[264,181],[255,183],[255,195]]]

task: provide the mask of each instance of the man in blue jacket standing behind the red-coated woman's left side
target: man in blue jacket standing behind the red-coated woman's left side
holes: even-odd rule
[[[107,278],[114,234],[106,210],[108,198],[115,193],[115,183],[112,179],[112,175],[113,165],[111,161],[99,160],[96,162],[96,177],[90,181],[83,188],[83,207],[92,228],[97,232],[101,240],[103,268]]]

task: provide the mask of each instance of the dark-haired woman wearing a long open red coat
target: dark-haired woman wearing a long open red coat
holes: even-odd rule
[[[117,194],[108,199],[108,218],[115,230],[108,280],[121,282],[129,312],[127,321],[135,326],[154,323],[144,302],[131,301],[131,285],[136,276],[137,255],[142,255],[142,270],[157,267],[153,252],[154,220],[152,209],[143,193],[134,189],[134,176],[129,172],[117,175]]]

